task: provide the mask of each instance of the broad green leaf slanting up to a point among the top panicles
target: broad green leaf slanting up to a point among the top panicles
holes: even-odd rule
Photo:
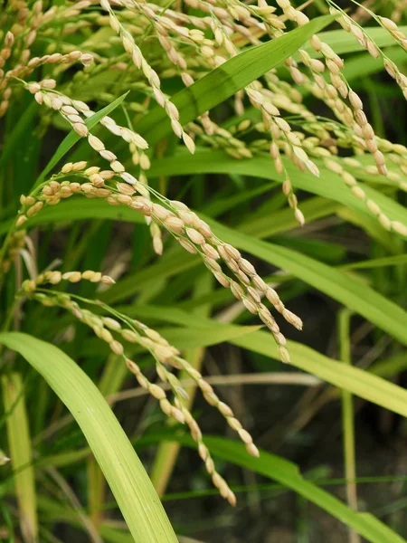
[[[318,17],[275,40],[251,47],[224,62],[190,87],[177,92],[171,100],[179,111],[181,124],[185,125],[205,111],[212,110],[251,81],[257,80],[266,71],[284,62],[308,38],[334,19],[332,15]],[[164,138],[171,132],[166,111],[162,108],[151,111],[138,123],[137,131],[147,138],[151,145]]]

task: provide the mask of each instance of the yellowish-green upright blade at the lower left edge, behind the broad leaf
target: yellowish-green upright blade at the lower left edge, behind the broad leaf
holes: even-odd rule
[[[17,373],[2,376],[1,381],[21,531],[24,541],[36,541],[37,505],[24,384]]]

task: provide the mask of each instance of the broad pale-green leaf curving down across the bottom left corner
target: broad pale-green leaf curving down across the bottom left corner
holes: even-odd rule
[[[143,464],[98,388],[59,348],[20,332],[0,334],[48,382],[75,417],[137,543],[176,543]]]

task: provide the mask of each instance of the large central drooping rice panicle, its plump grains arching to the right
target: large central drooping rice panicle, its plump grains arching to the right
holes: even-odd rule
[[[70,174],[78,176],[80,180],[85,178],[85,182],[57,180]],[[121,180],[116,180],[117,177]],[[262,303],[262,298],[269,300],[275,310],[297,329],[302,329],[301,319],[284,306],[278,293],[261,279],[251,262],[232,245],[223,243],[215,236],[211,227],[197,214],[182,202],[170,201],[163,196],[160,196],[161,204],[154,203],[147,197],[148,187],[126,171],[100,170],[99,167],[87,167],[86,162],[65,164],[61,174],[45,183],[36,197],[22,196],[23,208],[16,221],[17,227],[38,214],[44,204],[57,205],[74,194],[103,198],[109,205],[126,205],[149,218],[152,224],[171,233],[186,251],[199,254],[216,280],[230,289],[233,296],[241,300],[247,310],[258,315],[270,329],[279,347],[281,360],[289,362],[286,338],[279,331],[270,310]]]

